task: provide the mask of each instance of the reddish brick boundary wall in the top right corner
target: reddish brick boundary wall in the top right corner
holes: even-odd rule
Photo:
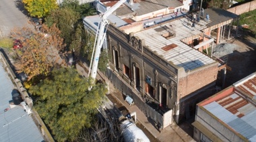
[[[231,7],[229,9],[227,9],[227,11],[235,13],[236,15],[241,15],[243,13],[253,11],[254,9],[256,9],[256,1],[250,1],[250,2],[244,3],[242,5],[237,5],[236,7]]]

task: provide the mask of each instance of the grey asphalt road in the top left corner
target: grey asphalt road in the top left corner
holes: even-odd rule
[[[9,36],[14,27],[32,27],[28,23],[26,10],[21,0],[1,0],[0,2],[0,38]]]

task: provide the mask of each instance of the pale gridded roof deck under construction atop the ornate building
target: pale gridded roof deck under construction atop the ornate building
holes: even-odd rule
[[[181,42],[181,40],[186,37],[199,35],[199,33],[201,33],[200,30],[205,28],[205,24],[206,21],[201,20],[199,24],[196,24],[195,28],[193,28],[191,25],[187,25],[187,19],[183,17],[175,21],[160,24],[156,27],[138,31],[134,36],[145,40],[145,44],[150,50],[161,55],[168,62],[181,66],[185,68],[185,70],[193,70],[205,64],[215,62],[212,58],[205,56],[201,52]],[[170,39],[164,38],[162,34],[168,32],[175,33],[175,36]],[[170,44],[176,44],[177,47],[168,51],[162,50],[163,47]]]

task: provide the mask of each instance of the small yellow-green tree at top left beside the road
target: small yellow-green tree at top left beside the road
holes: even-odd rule
[[[22,0],[22,2],[33,17],[44,17],[58,7],[56,0]]]

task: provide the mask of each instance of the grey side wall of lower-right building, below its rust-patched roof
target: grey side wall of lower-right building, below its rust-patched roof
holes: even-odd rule
[[[241,137],[238,137],[238,135],[236,135],[233,131],[230,131],[230,129],[227,128],[228,126],[224,125],[222,121],[217,120],[214,115],[210,115],[205,111],[205,109],[197,106],[195,121],[201,123],[201,125],[214,133],[214,135],[222,139],[222,141],[244,141],[243,139],[241,139]]]

